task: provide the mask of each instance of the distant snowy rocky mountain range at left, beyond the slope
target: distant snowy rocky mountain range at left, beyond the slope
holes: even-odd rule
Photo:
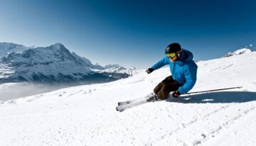
[[[6,82],[110,82],[132,76],[134,67],[118,64],[102,67],[70,52],[61,43],[26,47],[0,43],[0,84]]]

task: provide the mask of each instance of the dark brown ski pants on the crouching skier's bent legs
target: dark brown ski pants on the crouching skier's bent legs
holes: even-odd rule
[[[154,94],[156,94],[159,99],[165,100],[167,99],[171,91],[178,90],[178,87],[180,86],[181,84],[179,84],[171,76],[169,76],[166,77],[166,79],[164,79],[154,88]]]

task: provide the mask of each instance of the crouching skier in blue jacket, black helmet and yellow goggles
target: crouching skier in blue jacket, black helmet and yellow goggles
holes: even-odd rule
[[[167,99],[171,91],[174,91],[172,96],[178,98],[191,90],[196,84],[197,65],[193,61],[192,52],[181,49],[178,43],[171,43],[166,47],[166,57],[154,64],[146,72],[150,74],[156,69],[169,64],[171,76],[166,77],[154,88],[154,94],[161,99]]]

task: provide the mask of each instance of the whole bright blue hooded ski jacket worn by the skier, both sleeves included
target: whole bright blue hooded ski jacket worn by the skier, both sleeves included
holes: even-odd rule
[[[171,62],[166,56],[154,64],[151,68],[159,69],[166,64],[169,64],[173,79],[181,84],[181,86],[178,88],[178,91],[181,94],[190,91],[196,84],[196,72],[198,68],[196,63],[193,61],[192,52],[182,49],[180,60]]]

